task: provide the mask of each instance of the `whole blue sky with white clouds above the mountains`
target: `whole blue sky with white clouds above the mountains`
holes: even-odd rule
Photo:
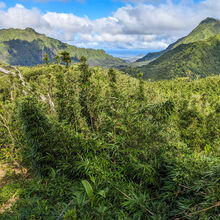
[[[220,19],[220,0],[0,0],[0,29],[31,27],[120,57],[165,49],[206,17]]]

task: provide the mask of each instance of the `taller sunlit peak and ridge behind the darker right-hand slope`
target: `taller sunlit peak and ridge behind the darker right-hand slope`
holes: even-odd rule
[[[138,59],[136,62],[153,61],[181,44],[189,44],[196,41],[206,40],[217,34],[220,34],[220,21],[214,18],[206,18],[186,37],[180,38],[173,44],[169,45],[169,47],[167,47],[165,50],[148,53],[146,56]]]

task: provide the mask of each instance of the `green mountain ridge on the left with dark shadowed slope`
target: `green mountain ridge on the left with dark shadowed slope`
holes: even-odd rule
[[[39,34],[31,28],[0,30],[0,62],[11,65],[33,66],[42,64],[47,53],[52,59],[60,51],[70,53],[73,62],[85,56],[91,66],[119,66],[125,62],[105,53],[104,50],[84,49]]]

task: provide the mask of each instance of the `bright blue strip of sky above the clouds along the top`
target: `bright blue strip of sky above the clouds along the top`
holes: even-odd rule
[[[187,2],[188,0],[184,0]],[[184,2],[182,1],[182,2]],[[194,0],[198,3],[202,0]],[[218,0],[217,0],[218,1]],[[126,4],[140,3],[141,1],[123,1],[123,0],[1,0],[7,8],[15,6],[17,3],[27,8],[37,7],[42,12],[54,11],[63,13],[74,13],[77,16],[88,16],[90,19],[110,16],[112,12]],[[144,2],[144,1],[142,1]],[[147,1],[145,1],[147,2]],[[158,5],[166,1],[148,1],[151,4]],[[181,0],[173,0],[174,4],[178,4]],[[188,1],[190,2],[190,1]]]

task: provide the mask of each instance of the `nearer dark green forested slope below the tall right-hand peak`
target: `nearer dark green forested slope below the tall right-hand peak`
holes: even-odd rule
[[[142,71],[145,79],[153,80],[219,74],[220,35],[181,44],[136,71]]]

